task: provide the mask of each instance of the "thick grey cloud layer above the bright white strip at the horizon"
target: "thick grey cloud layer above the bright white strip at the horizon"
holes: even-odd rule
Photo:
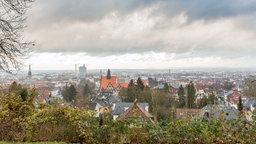
[[[28,35],[39,52],[253,56],[255,11],[254,0],[37,0]]]

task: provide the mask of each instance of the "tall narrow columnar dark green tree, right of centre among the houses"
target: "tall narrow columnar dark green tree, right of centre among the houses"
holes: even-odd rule
[[[193,84],[192,81],[188,84],[188,90],[187,91],[188,91],[187,106],[188,106],[188,108],[194,108],[196,89],[195,89],[194,84]]]

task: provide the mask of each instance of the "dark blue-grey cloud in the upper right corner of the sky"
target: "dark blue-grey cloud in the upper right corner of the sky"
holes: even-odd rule
[[[161,10],[170,15],[185,11],[191,20],[216,19],[256,12],[254,0],[193,0],[161,1]]]

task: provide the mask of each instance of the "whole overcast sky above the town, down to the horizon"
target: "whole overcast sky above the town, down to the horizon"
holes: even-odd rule
[[[255,0],[36,0],[32,69],[256,67]]]

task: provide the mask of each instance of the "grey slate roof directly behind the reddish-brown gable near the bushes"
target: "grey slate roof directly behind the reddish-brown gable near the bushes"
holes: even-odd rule
[[[125,108],[129,108],[133,105],[134,103],[116,103],[114,110],[113,110],[113,115],[120,115],[125,111]],[[148,103],[137,103],[140,107],[142,107],[144,110],[146,107],[148,107]]]

